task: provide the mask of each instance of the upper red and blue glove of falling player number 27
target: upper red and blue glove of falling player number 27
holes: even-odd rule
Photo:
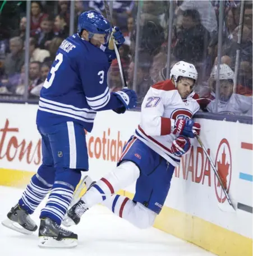
[[[194,138],[195,134],[200,134],[200,124],[193,120],[177,119],[175,121],[173,134],[184,135],[189,138]]]

